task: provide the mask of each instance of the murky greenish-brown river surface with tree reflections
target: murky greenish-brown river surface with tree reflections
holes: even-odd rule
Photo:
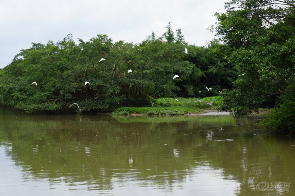
[[[262,118],[2,108],[0,195],[295,195],[295,141]]]

